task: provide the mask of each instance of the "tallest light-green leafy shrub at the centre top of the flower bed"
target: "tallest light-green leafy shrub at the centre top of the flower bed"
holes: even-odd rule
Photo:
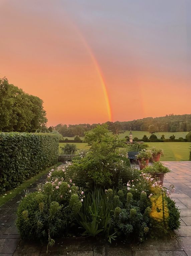
[[[89,189],[117,186],[119,180],[124,180],[130,161],[120,154],[115,138],[106,138],[105,142],[92,142],[89,152],[80,159],[73,160],[67,172],[77,186],[87,186]]]

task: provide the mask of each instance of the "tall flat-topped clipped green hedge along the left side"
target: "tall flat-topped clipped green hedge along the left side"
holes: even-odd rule
[[[58,142],[54,134],[0,133],[0,194],[55,164]]]

